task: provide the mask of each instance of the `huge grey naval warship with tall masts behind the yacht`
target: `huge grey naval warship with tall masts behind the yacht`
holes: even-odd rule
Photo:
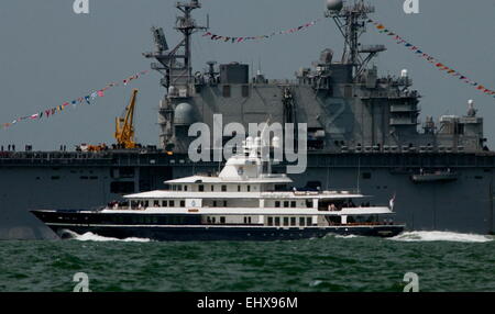
[[[207,27],[197,25],[191,13],[201,3],[175,5],[182,41],[170,48],[164,31],[153,27],[155,51],[144,54],[165,88],[160,146],[2,152],[0,238],[53,238],[30,210],[91,209],[164,188],[166,180],[216,172],[219,162],[193,162],[187,154],[189,126],[212,127],[213,114],[245,127],[268,119],[307,123],[308,166],[290,176],[297,188],[355,188],[377,204],[395,195],[396,221],[409,229],[494,232],[495,154],[485,146],[483,117],[470,102],[463,116],[419,122],[420,94],[407,71],[380,76],[370,60],[385,46],[360,43],[373,7],[328,1],[324,16],[343,35],[342,57],[328,48],[294,79],[271,80],[260,72],[250,77],[249,65],[239,63],[209,61],[205,71],[194,71],[191,36]]]

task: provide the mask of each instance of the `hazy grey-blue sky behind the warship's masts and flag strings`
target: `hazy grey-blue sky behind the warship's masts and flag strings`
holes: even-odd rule
[[[404,0],[374,0],[371,15],[419,46],[443,64],[495,89],[495,2],[493,0],[419,0],[420,14],[406,15]],[[76,15],[73,0],[0,1],[0,123],[30,115],[88,94],[107,83],[148,69],[141,53],[152,51],[152,25],[163,26],[169,46],[178,35],[175,1],[90,0],[90,14]],[[323,0],[204,0],[195,12],[198,22],[210,15],[211,32],[262,35],[298,26],[323,15]],[[466,5],[470,4],[470,5]],[[364,43],[385,44],[377,59],[383,75],[409,69],[415,88],[425,97],[421,120],[433,115],[464,114],[473,99],[485,117],[485,136],[495,147],[495,99],[435,69],[389,37],[370,29]],[[330,20],[297,34],[264,42],[218,43],[196,35],[193,44],[195,70],[210,59],[254,64],[261,59],[268,78],[294,78],[310,66],[320,51],[331,47],[340,55],[342,40]],[[110,89],[95,106],[68,109],[40,121],[0,130],[0,144],[34,149],[73,147],[80,143],[113,143],[114,117],[120,115],[132,88],[140,89],[135,119],[141,143],[157,144],[157,106],[164,90],[160,76],[151,72],[127,88]]]

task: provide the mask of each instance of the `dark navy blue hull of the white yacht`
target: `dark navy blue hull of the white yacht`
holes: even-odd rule
[[[59,237],[94,233],[113,238],[153,240],[280,240],[323,237],[328,234],[392,237],[404,225],[263,226],[201,224],[201,215],[183,215],[180,224],[169,224],[170,215],[109,214],[79,211],[32,211]],[[153,218],[150,218],[153,217]],[[143,223],[141,217],[150,222]],[[146,221],[146,220],[144,220]],[[146,221],[146,222],[147,222]]]

